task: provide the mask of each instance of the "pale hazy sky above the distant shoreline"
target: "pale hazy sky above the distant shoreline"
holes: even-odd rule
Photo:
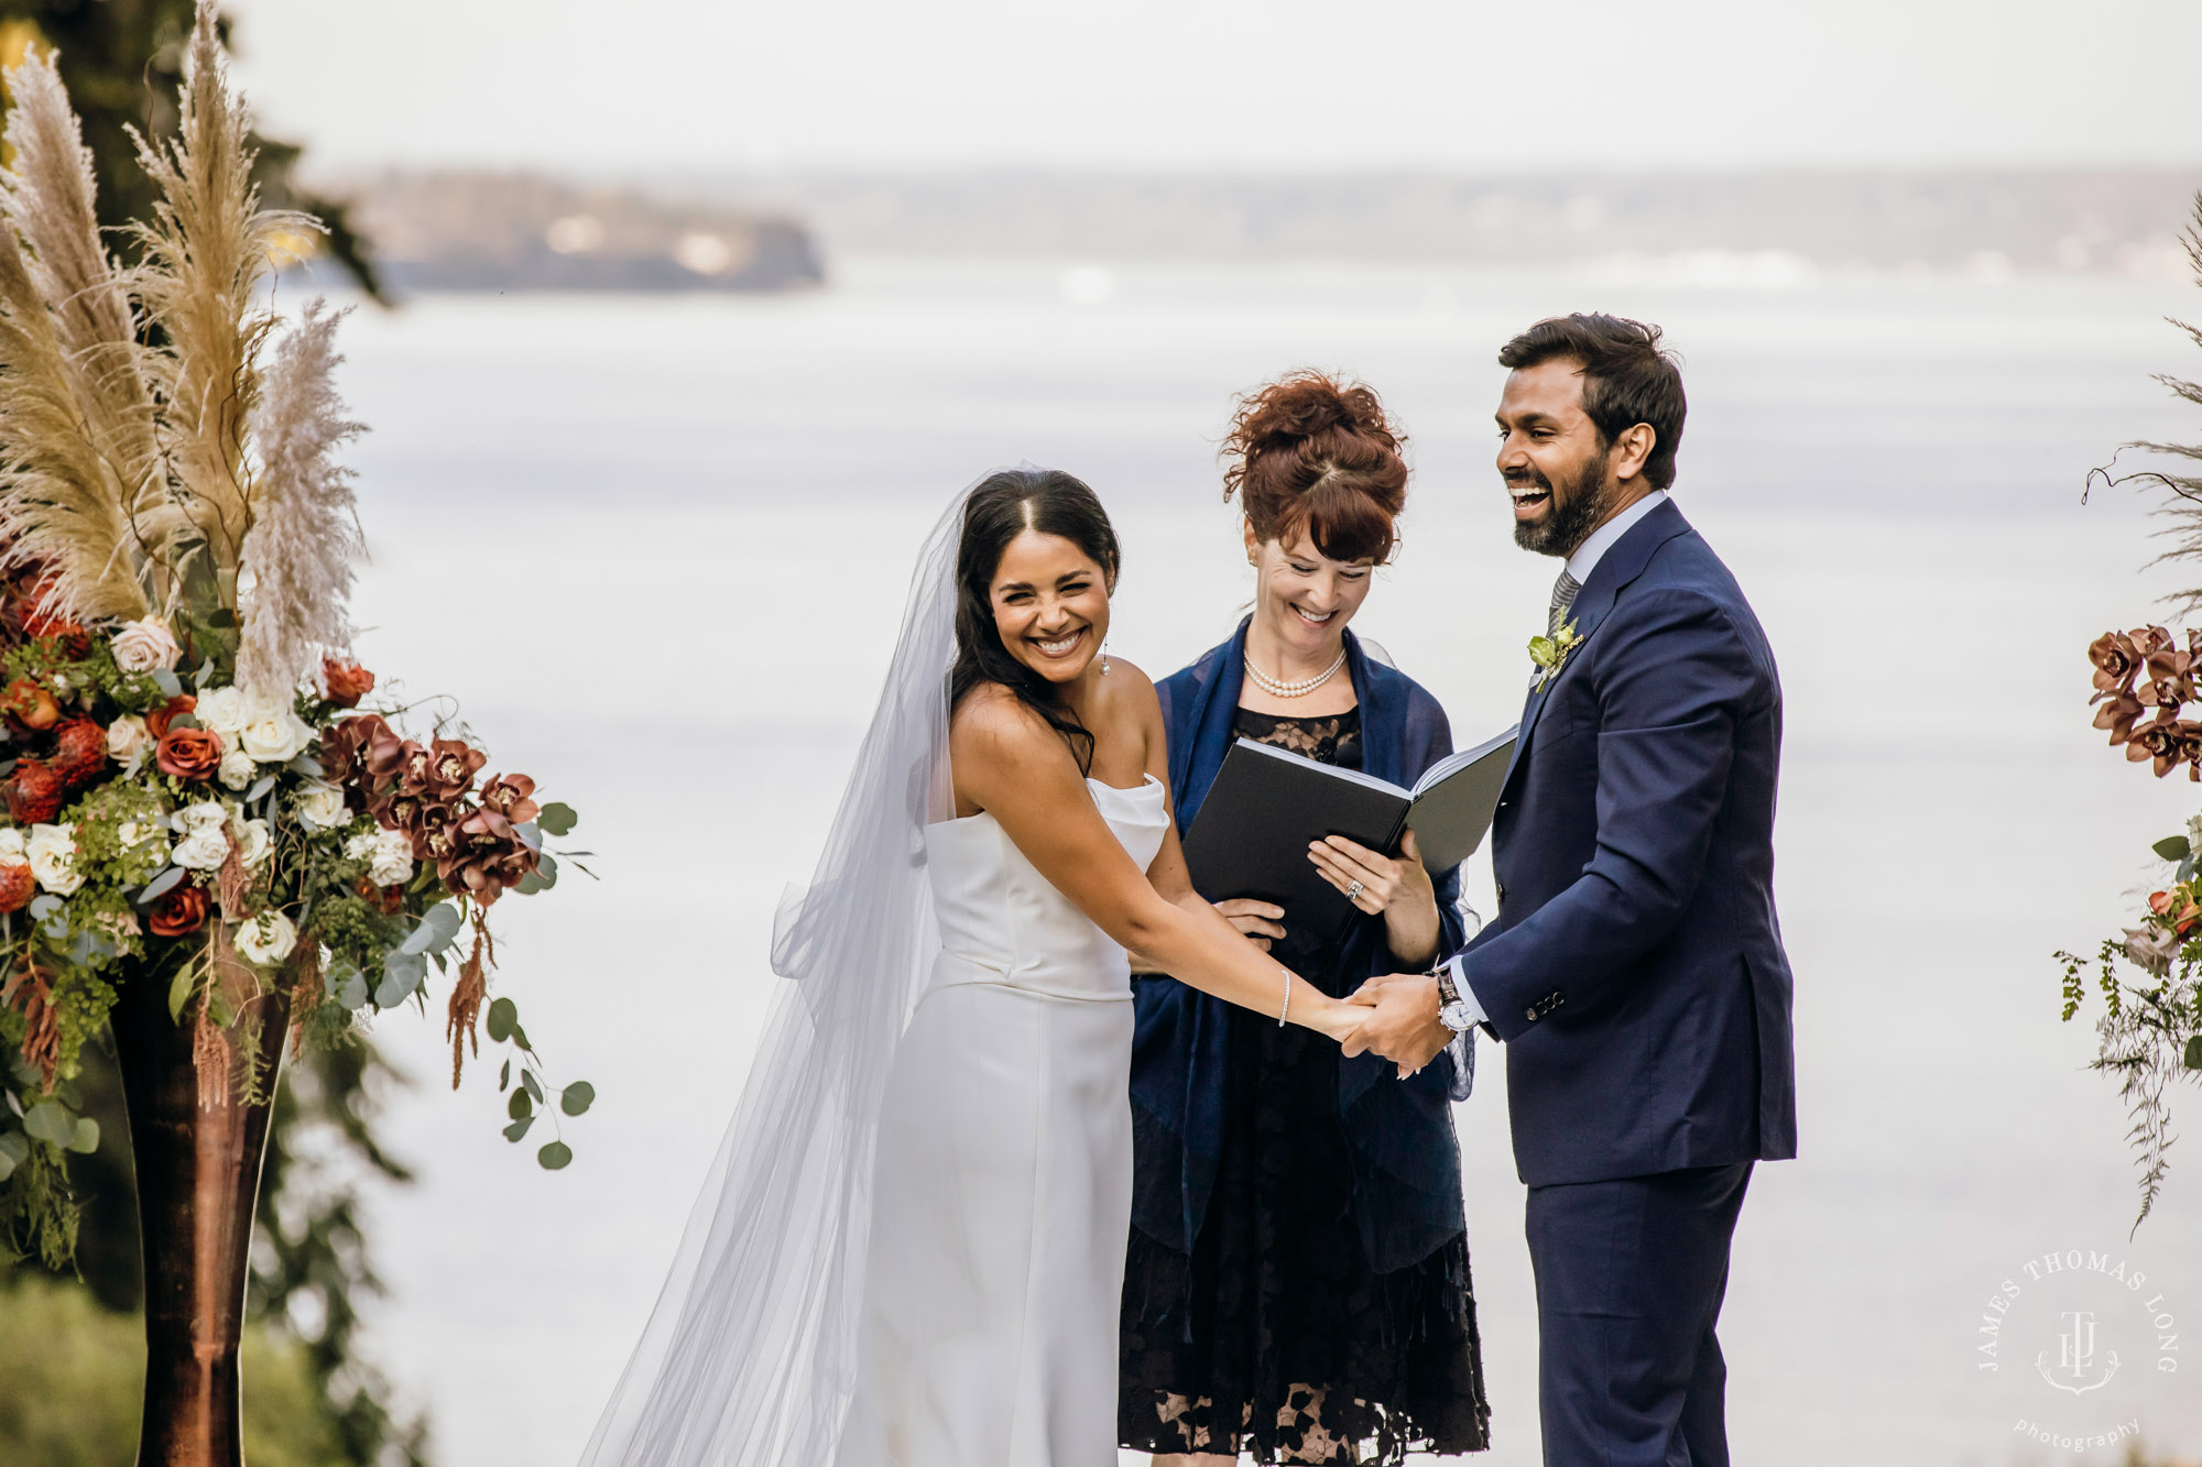
[[[2198,0],[229,0],[324,163],[2198,163]]]

